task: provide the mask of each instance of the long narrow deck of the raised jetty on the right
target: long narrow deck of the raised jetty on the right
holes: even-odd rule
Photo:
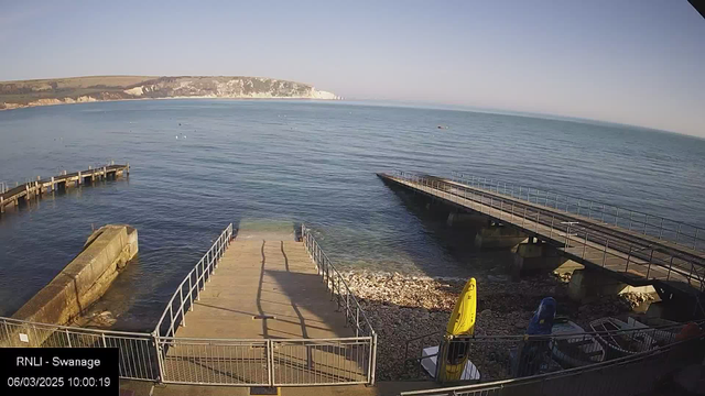
[[[647,232],[648,220],[644,232],[638,232],[631,230],[631,223],[629,229],[622,227],[618,216],[615,223],[608,223],[604,212],[600,220],[581,215],[579,209],[574,213],[567,208],[562,210],[558,205],[531,202],[502,191],[499,185],[498,188],[486,188],[463,178],[453,180],[411,173],[378,176],[391,185],[518,228],[556,248],[567,258],[601,268],[627,284],[653,285],[661,292],[690,295],[705,288],[705,252],[695,249],[701,242],[697,229],[692,245],[686,245],[664,239],[663,230],[658,237],[650,234]]]

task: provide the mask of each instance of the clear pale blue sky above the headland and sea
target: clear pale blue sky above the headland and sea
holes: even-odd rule
[[[705,136],[704,40],[686,0],[0,0],[0,80],[265,76]]]

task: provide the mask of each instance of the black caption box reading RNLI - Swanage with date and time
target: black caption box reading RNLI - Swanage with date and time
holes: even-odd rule
[[[120,394],[117,348],[0,348],[0,395]]]

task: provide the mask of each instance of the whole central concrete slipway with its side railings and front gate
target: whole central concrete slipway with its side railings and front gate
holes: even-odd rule
[[[161,380],[373,384],[375,331],[308,230],[301,242],[234,235],[230,224],[167,304],[155,330]]]

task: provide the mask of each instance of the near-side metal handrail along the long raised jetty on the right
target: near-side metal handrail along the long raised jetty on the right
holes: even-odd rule
[[[691,280],[695,280],[701,292],[705,289],[705,282],[702,274],[698,273],[698,271],[703,270],[704,265],[698,262],[696,268],[695,261],[688,261],[682,255],[670,253],[668,249],[649,245],[644,250],[643,244],[634,244],[632,241],[626,239],[615,239],[607,233],[589,232],[589,229],[576,227],[575,223],[562,223],[560,218],[562,212],[549,211],[540,206],[527,205],[524,204],[527,201],[523,199],[514,197],[512,197],[514,200],[509,200],[505,198],[509,196],[502,196],[501,193],[498,195],[494,195],[494,193],[486,194],[484,188],[469,187],[463,184],[454,185],[440,178],[412,173],[397,172],[397,175],[398,178],[406,183],[434,189],[446,199],[463,200],[462,205],[468,205],[469,202],[469,207],[474,210],[479,210],[480,212],[484,210],[487,215],[506,218],[503,220],[519,219],[521,220],[521,227],[524,229],[524,223],[529,220],[530,223],[533,222],[534,226],[531,226],[531,229],[525,229],[527,231],[539,233],[539,228],[542,229],[541,231],[547,231],[550,239],[553,240],[551,241],[553,244],[560,243],[560,249],[565,250],[566,253],[581,260],[585,260],[589,249],[593,253],[601,254],[601,263],[599,260],[593,263],[597,265],[601,264],[603,267],[606,266],[608,256],[609,258],[616,257],[619,261],[626,262],[625,273],[629,272],[630,264],[642,265],[648,267],[646,268],[647,279],[658,279],[657,277],[649,277],[653,264],[664,271],[668,270],[665,280],[671,280],[671,278],[677,274],[685,278],[688,284],[691,284]],[[459,187],[464,188],[460,189]],[[489,207],[489,209],[485,207]],[[530,208],[530,210],[528,210],[528,208]],[[558,218],[557,222],[556,217]],[[557,242],[558,239],[561,239],[561,242]],[[563,242],[563,239],[565,242]],[[568,250],[575,250],[575,248],[578,250],[582,249],[582,251],[568,252]],[[686,264],[690,265],[690,267],[683,267],[683,265]]]

